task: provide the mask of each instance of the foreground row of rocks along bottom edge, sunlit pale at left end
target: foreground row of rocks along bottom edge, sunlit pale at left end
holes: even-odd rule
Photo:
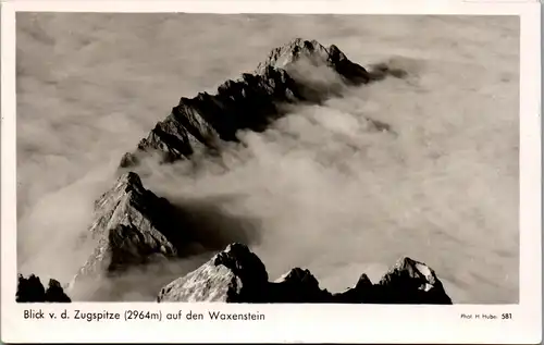
[[[200,268],[164,286],[158,301],[366,303],[450,305],[434,271],[400,259],[378,284],[362,274],[357,284],[331,294],[308,270],[295,268],[269,282],[264,264],[245,245],[232,244]]]

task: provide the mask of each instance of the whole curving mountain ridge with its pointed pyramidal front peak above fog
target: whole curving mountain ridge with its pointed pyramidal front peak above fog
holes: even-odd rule
[[[325,48],[316,40],[294,39],[272,50],[255,74],[223,83],[217,95],[182,98],[140,140],[137,150],[123,157],[121,167],[135,168],[141,157],[157,151],[162,162],[189,159],[198,150],[213,152],[221,140],[236,140],[235,133],[240,128],[264,130],[283,114],[282,104],[319,102],[329,97],[327,85],[289,75],[296,75],[297,63],[324,67],[350,85],[369,83],[385,73],[383,69],[368,72],[336,46]],[[376,127],[383,125],[376,122]],[[136,173],[123,173],[96,201],[90,234],[97,246],[74,282],[88,275],[108,275],[127,266],[194,254],[191,245],[206,238],[191,225],[183,210],[145,189]],[[218,243],[211,249],[221,250],[227,244]]]

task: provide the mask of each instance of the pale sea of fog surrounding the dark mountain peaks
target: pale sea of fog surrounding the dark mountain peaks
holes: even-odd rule
[[[182,96],[304,37],[407,77],[294,107],[196,169],[149,160],[145,187],[215,218],[223,238],[239,226],[272,280],[302,267],[342,291],[409,256],[456,303],[518,301],[517,17],[17,13],[16,25],[21,272],[69,282],[121,156]]]

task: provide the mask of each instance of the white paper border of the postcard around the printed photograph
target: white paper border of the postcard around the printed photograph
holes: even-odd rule
[[[17,305],[15,12],[197,12],[338,14],[494,14],[520,16],[520,297],[518,305],[226,305],[71,304],[34,305],[64,309],[161,312],[162,322],[23,319]],[[536,2],[458,1],[17,1],[1,12],[1,332],[3,343],[493,343],[542,341],[540,5]],[[166,312],[260,312],[264,321],[164,321]],[[46,312],[46,313],[47,313]],[[461,313],[493,313],[497,320],[467,321]],[[500,320],[511,313],[511,320]]]

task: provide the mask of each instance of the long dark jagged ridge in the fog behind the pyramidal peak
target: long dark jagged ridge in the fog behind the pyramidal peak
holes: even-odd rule
[[[169,163],[195,152],[214,151],[220,140],[236,140],[238,130],[264,131],[271,121],[283,115],[282,104],[320,102],[335,94],[331,85],[317,85],[297,74],[294,65],[301,61],[329,69],[346,84],[372,79],[336,46],[326,49],[316,40],[297,38],[272,50],[255,74],[245,73],[238,81],[223,83],[215,95],[183,97],[170,115],[139,141],[135,152],[123,156],[120,167],[137,165],[150,152],[159,152],[161,162]]]

